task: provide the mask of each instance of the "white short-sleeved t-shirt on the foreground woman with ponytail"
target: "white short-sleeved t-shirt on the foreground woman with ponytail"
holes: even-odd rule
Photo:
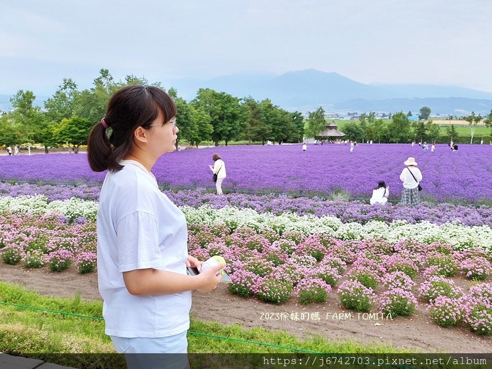
[[[189,328],[191,291],[130,295],[123,272],[154,268],[186,274],[186,219],[137,161],[106,175],[97,211],[97,276],[104,300],[105,333],[168,337]]]

